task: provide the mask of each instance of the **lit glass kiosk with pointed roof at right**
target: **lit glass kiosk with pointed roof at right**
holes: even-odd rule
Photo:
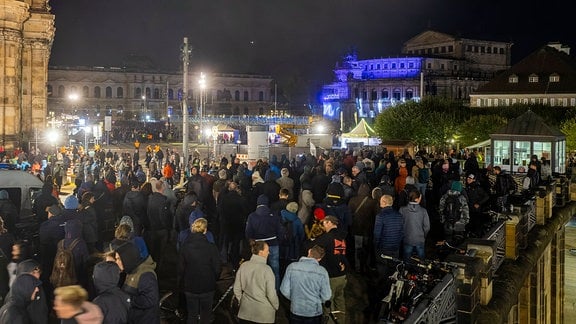
[[[531,110],[490,134],[490,142],[493,166],[512,173],[526,172],[530,157],[536,155],[538,160],[545,157],[550,161],[553,173],[565,173],[566,136]]]

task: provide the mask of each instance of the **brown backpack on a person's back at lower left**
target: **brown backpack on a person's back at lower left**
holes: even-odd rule
[[[78,242],[80,242],[80,239],[74,239],[68,248],[64,247],[64,240],[58,242],[58,250],[54,257],[54,265],[52,266],[52,274],[50,275],[50,282],[54,288],[78,283],[74,254],[72,253],[72,250],[74,250]]]

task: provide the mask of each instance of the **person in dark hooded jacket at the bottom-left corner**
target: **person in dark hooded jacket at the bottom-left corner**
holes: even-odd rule
[[[28,309],[40,293],[42,281],[31,274],[19,275],[11,289],[11,298],[0,308],[0,323],[32,323],[33,314]]]

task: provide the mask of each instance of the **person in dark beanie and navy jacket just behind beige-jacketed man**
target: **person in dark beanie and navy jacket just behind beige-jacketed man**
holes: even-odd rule
[[[280,287],[280,247],[279,238],[282,224],[279,214],[274,214],[268,207],[268,196],[260,195],[256,200],[256,210],[248,215],[246,221],[246,239],[264,241],[270,248],[268,265],[276,277],[276,288]]]

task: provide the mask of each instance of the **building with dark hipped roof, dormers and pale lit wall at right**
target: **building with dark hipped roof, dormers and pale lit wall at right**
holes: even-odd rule
[[[513,104],[575,107],[576,60],[570,48],[545,45],[470,95],[471,107]]]

